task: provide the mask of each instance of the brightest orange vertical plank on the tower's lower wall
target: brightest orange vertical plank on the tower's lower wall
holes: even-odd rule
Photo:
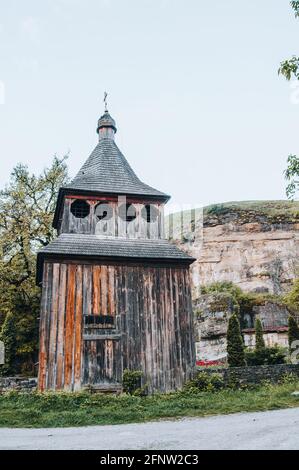
[[[71,389],[72,362],[74,344],[74,311],[75,311],[75,275],[76,265],[68,265],[66,321],[65,321],[65,354],[64,354],[64,388]]]

